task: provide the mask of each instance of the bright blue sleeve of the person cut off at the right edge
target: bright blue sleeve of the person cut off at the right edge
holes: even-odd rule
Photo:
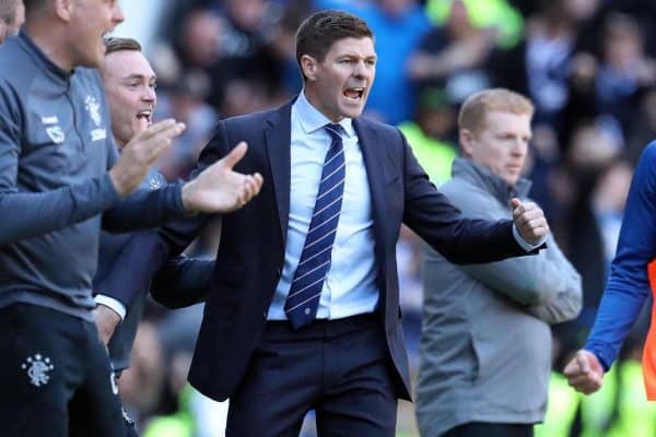
[[[656,142],[643,152],[626,200],[610,276],[584,349],[609,369],[649,294],[647,264],[656,256]]]

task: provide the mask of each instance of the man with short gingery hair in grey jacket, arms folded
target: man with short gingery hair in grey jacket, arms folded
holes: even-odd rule
[[[442,192],[468,216],[512,216],[534,106],[507,90],[471,96],[458,117],[465,157]],[[417,418],[423,436],[529,437],[544,417],[549,324],[576,317],[581,276],[549,236],[535,257],[456,265],[432,249],[424,305]]]

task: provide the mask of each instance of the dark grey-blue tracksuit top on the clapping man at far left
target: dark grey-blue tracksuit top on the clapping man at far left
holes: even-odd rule
[[[119,200],[96,70],[62,71],[21,33],[0,47],[0,308],[15,303],[93,320],[101,228],[184,214],[171,185]]]

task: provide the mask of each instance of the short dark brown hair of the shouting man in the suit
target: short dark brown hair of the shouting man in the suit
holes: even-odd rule
[[[374,39],[374,33],[364,20],[345,11],[319,11],[305,19],[296,32],[296,62],[301,72],[303,55],[320,62],[332,44],[343,38]]]

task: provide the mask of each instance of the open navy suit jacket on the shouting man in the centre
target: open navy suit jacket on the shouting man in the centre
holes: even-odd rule
[[[396,368],[397,393],[410,399],[396,263],[401,223],[456,263],[527,253],[513,237],[512,222],[462,217],[429,181],[399,130],[364,117],[353,125],[373,203],[377,314]],[[225,156],[239,141],[249,149],[235,169],[259,172],[265,184],[251,202],[223,217],[216,268],[189,373],[191,385],[215,400],[229,398],[244,378],[282,272],[290,211],[291,103],[221,121],[198,170]],[[181,250],[202,222],[197,217],[172,226],[163,237],[174,250]]]

